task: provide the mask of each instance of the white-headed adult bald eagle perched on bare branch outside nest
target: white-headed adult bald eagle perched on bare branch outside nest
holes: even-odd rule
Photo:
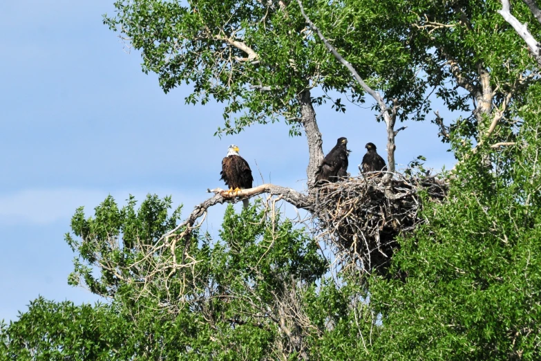
[[[251,169],[247,161],[238,155],[238,147],[229,145],[227,156],[222,160],[222,172],[220,172],[227,187],[228,193],[238,192],[240,189],[251,188],[254,178],[251,176]],[[248,199],[243,199],[243,206],[248,207]]]

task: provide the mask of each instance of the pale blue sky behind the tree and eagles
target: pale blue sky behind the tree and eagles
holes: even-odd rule
[[[38,295],[96,299],[67,284],[74,254],[64,234],[80,205],[90,213],[108,194],[125,203],[129,194],[155,193],[190,211],[207,188],[224,186],[218,179],[230,144],[240,147],[257,184],[263,181],[255,161],[265,182],[304,187],[304,138],[290,138],[284,124],[214,137],[220,104],[185,105],[187,86],[165,95],[155,75],[142,73],[140,55],[127,53],[102,24],[112,4],[0,2],[0,320],[15,320]],[[384,124],[370,109],[316,112],[325,153],[348,137],[352,174],[366,142],[386,158]],[[429,167],[452,167],[435,125],[406,125],[397,137],[398,163],[423,154]],[[205,227],[217,230],[223,210],[213,208]]]

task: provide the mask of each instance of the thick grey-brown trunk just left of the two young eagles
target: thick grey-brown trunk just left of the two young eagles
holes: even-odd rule
[[[297,95],[298,104],[301,105],[301,123],[303,124],[306,140],[308,141],[308,167],[306,169],[308,188],[316,183],[316,172],[323,161],[323,140],[316,122],[316,111],[312,107],[310,91],[303,91]]]

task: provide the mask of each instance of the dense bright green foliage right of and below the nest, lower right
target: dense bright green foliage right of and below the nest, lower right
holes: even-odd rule
[[[383,315],[376,359],[540,358],[539,99],[522,109],[518,145],[482,150],[492,172],[471,155],[448,201],[426,204],[428,222],[393,258],[405,281],[372,279]]]

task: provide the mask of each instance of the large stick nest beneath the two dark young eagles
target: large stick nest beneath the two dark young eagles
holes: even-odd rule
[[[436,176],[401,177],[390,183],[368,176],[327,183],[313,195],[316,232],[336,246],[345,265],[386,274],[399,246],[396,237],[423,223],[419,193],[441,201],[447,189],[445,180]]]

